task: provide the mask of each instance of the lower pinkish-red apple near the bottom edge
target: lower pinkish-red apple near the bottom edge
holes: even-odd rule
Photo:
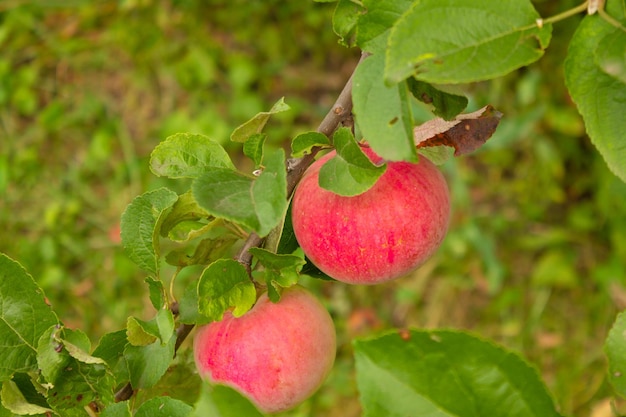
[[[310,397],[333,367],[335,326],[309,291],[286,289],[273,303],[261,295],[250,311],[230,312],[194,338],[200,376],[238,390],[264,413],[289,410]]]

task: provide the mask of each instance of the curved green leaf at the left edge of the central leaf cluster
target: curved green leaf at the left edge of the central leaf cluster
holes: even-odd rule
[[[159,188],[136,197],[122,214],[122,245],[140,268],[158,276],[159,228],[178,195]]]

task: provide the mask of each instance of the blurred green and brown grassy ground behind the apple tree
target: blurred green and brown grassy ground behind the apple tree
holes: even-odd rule
[[[547,17],[576,2],[535,4]],[[0,251],[30,271],[69,327],[96,343],[129,315],[152,314],[119,220],[144,191],[180,187],[148,169],[161,140],[203,133],[243,164],[230,132],[283,96],[292,110],[271,122],[272,146],[317,127],[359,57],[338,44],[332,9],[0,1]],[[432,261],[378,287],[306,282],[336,318],[340,355],[320,393],[290,415],[360,415],[350,340],[407,326],[496,340],[537,366],[564,414],[610,415],[602,345],[626,307],[626,185],[564,88],[579,18],[555,25],[538,63],[457,87],[468,110],[490,103],[504,119],[483,149],[442,167],[454,213]]]

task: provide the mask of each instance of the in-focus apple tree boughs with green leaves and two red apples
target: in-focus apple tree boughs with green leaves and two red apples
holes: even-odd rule
[[[332,319],[303,282],[385,285],[431,256],[454,210],[436,166],[467,157],[506,117],[490,103],[467,112],[450,86],[532,65],[553,25],[573,15],[585,17],[567,51],[567,89],[597,152],[626,181],[623,0],[552,17],[530,0],[319,2],[361,59],[317,128],[287,151],[266,146],[264,128],[289,111],[287,97],[231,134],[253,170],[201,133],[152,151],[152,173],[186,187],[145,192],[121,214],[152,319],[129,317],[92,346],[36,277],[0,255],[0,416],[258,416],[306,401],[332,372],[336,346]],[[418,103],[430,121],[416,122]],[[185,271],[197,276],[180,288]],[[618,396],[625,329],[620,315],[606,340]],[[188,338],[193,348],[181,347]],[[364,416],[561,415],[532,364],[480,335],[392,329],[352,348]],[[180,359],[191,350],[195,361]]]

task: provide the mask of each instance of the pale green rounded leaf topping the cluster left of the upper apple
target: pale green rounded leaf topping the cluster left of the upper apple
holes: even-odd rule
[[[204,135],[177,133],[150,154],[150,169],[159,177],[196,178],[208,167],[234,169],[222,145]]]

